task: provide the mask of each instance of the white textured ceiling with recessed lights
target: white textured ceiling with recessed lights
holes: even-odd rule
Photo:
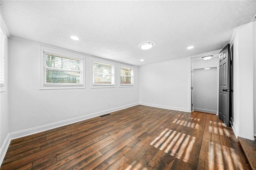
[[[11,36],[132,65],[222,49],[256,1],[7,1]],[[80,38],[70,39],[71,35]],[[140,43],[153,42],[149,50]],[[194,49],[186,49],[193,45]],[[141,62],[140,59],[144,59]]]

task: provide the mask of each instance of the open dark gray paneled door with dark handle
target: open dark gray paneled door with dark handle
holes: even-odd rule
[[[230,47],[220,51],[219,118],[229,127]]]

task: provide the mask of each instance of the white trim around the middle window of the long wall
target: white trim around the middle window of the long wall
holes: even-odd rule
[[[114,85],[93,85],[93,63],[102,63],[107,65],[114,65]],[[113,88],[116,87],[116,63],[106,61],[103,59],[93,59],[91,63],[91,88]]]

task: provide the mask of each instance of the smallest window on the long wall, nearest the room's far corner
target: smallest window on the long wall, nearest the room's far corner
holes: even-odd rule
[[[130,66],[120,67],[120,85],[134,85],[133,84],[133,71],[134,68]]]

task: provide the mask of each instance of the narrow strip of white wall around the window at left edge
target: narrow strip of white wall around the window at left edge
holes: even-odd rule
[[[9,133],[9,83],[8,83],[8,30],[1,18],[1,29],[6,34],[5,42],[5,90],[0,92],[0,164],[4,159],[6,153],[6,146],[8,146],[8,133]]]

